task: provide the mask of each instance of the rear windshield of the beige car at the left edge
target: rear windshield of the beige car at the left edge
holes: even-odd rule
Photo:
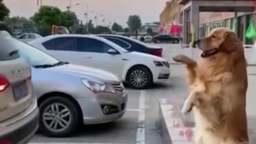
[[[9,38],[0,37],[0,61],[20,58],[20,54],[11,42],[12,40]]]

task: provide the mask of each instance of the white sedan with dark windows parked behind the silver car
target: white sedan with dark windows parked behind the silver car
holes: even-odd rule
[[[29,42],[55,58],[112,72],[137,89],[147,88],[153,82],[168,80],[169,63],[164,58],[127,51],[124,48],[93,35],[61,34]]]

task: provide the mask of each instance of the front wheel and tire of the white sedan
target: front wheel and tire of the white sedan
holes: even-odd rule
[[[140,75],[140,81],[136,79],[138,75]],[[131,68],[127,73],[126,80],[129,86],[135,89],[145,89],[153,83],[152,74],[145,66],[135,66]],[[144,82],[144,80],[146,82]]]

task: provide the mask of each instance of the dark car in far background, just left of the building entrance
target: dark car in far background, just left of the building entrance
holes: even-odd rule
[[[178,44],[180,42],[180,39],[174,36],[169,36],[169,35],[156,35],[152,37],[152,42]]]

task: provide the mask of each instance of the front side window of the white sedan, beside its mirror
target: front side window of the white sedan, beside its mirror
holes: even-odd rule
[[[79,38],[79,51],[107,53],[112,47],[93,38]]]

